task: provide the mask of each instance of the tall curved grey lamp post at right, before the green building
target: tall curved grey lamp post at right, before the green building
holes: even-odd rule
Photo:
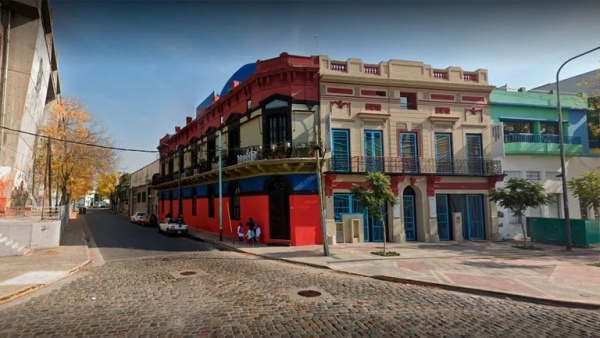
[[[596,51],[600,49],[599,47],[596,47],[594,49],[590,49],[587,52],[583,52],[581,54],[575,55],[574,57],[568,59],[567,61],[565,61],[562,65],[560,65],[560,67],[558,68],[558,71],[556,72],[556,106],[558,108],[558,134],[559,134],[559,138],[558,138],[558,145],[559,145],[559,149],[560,149],[560,169],[561,169],[561,180],[562,180],[562,192],[563,192],[563,209],[564,209],[564,213],[565,213],[565,232],[567,234],[567,245],[565,247],[566,251],[571,251],[573,249],[573,242],[571,239],[571,219],[570,219],[570,215],[569,215],[569,189],[567,187],[567,166],[565,164],[565,142],[564,142],[564,135],[563,135],[563,125],[562,125],[562,109],[560,106],[560,80],[559,80],[559,75],[560,75],[560,71],[561,69],[569,62],[571,62],[574,59],[577,59],[578,57],[584,56],[586,54],[589,54],[593,51]]]

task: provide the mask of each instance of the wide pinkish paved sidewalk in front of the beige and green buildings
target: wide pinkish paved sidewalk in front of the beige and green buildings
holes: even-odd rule
[[[574,248],[535,243],[544,250],[513,248],[515,243],[443,242],[382,243],[303,247],[249,246],[234,238],[193,230],[191,235],[215,245],[271,259],[328,268],[373,278],[434,288],[567,307],[600,309],[600,248]]]

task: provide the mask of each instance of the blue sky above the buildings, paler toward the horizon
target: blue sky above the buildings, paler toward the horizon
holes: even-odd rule
[[[600,1],[50,0],[63,97],[85,103],[120,148],[156,150],[244,64],[328,55],[487,69],[495,86],[555,81],[600,46]],[[598,69],[600,51],[560,79]],[[154,153],[120,152],[132,173]]]

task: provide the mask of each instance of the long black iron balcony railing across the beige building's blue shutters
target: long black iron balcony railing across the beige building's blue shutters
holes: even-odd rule
[[[500,160],[394,157],[394,156],[334,156],[328,161],[328,170],[336,173],[366,173],[380,171],[386,174],[498,176],[502,175]]]

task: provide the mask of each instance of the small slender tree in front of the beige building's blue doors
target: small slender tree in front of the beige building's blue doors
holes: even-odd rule
[[[388,204],[394,206],[398,201],[392,192],[388,176],[381,172],[370,172],[367,174],[367,182],[370,186],[369,190],[353,185],[350,192],[358,200],[358,203],[367,209],[371,217],[380,220],[383,224],[383,255],[385,256],[385,242],[387,239],[383,206]]]

